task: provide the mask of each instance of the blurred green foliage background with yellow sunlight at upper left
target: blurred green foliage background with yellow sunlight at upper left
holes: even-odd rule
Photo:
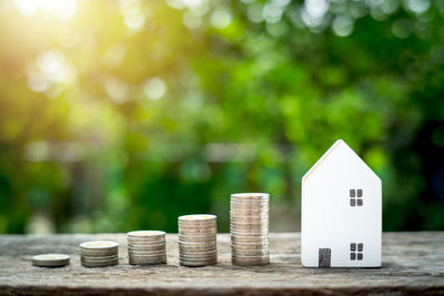
[[[0,233],[228,231],[251,191],[296,229],[336,139],[385,231],[444,229],[441,0],[3,0],[0,44]]]

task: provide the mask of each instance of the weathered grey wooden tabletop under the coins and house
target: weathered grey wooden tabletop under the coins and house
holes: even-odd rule
[[[271,265],[231,265],[230,237],[218,236],[219,264],[178,264],[176,235],[168,235],[168,265],[128,264],[124,234],[0,236],[0,294],[63,295],[276,295],[276,294],[437,294],[444,295],[444,233],[386,233],[382,268],[303,268],[300,234],[271,234]],[[80,266],[79,244],[91,239],[120,243],[120,265]],[[71,254],[71,265],[31,265],[41,253]]]

